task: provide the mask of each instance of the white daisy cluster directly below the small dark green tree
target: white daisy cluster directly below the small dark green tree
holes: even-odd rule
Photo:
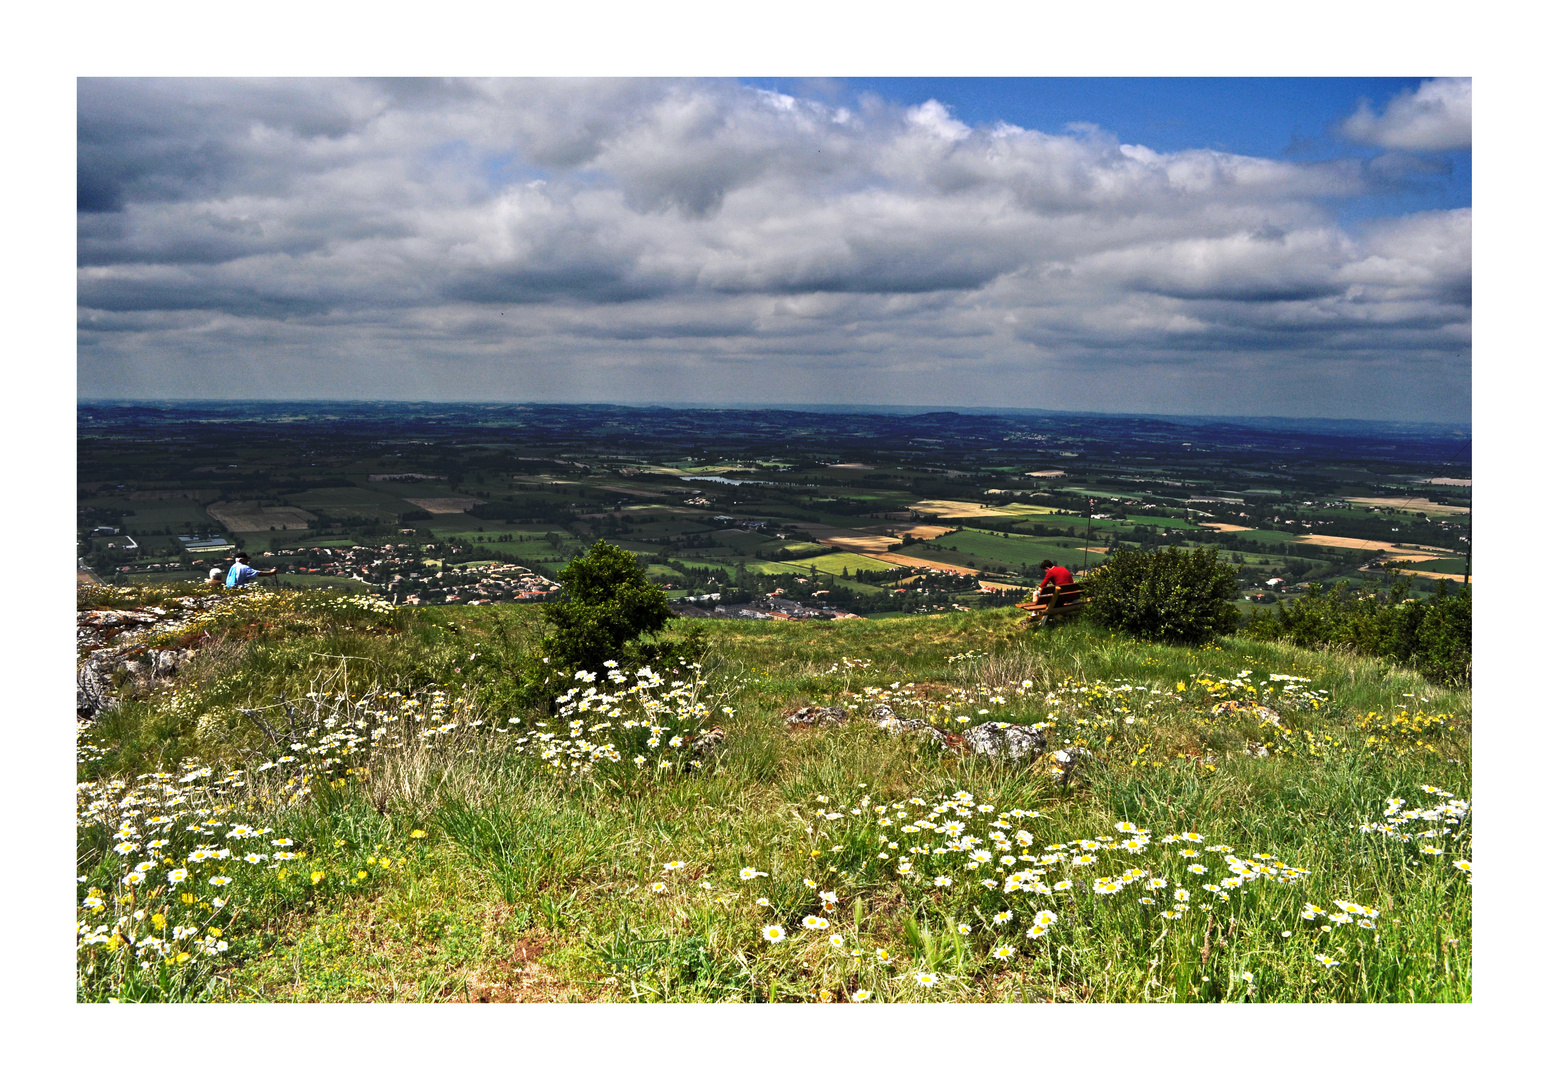
[[[668,682],[649,666],[634,676],[617,660],[603,665],[603,674],[578,671],[575,686],[555,699],[559,728],[548,721],[533,721],[514,739],[520,753],[538,756],[561,775],[584,775],[599,762],[627,761],[635,769],[669,769],[682,764],[689,744],[705,731],[725,691],[711,696],[700,676],[700,665],[688,665],[689,679]],[[730,716],[731,707],[719,711]],[[522,721],[511,719],[500,733],[517,731]],[[699,764],[696,759],[692,764]]]

